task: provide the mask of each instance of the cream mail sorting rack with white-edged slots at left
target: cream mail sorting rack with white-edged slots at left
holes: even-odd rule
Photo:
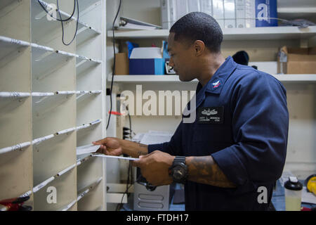
[[[29,195],[34,210],[106,210],[103,160],[84,161],[83,170],[76,155],[105,136],[105,1],[79,0],[79,20],[76,12],[64,23],[65,42],[79,24],[69,46],[39,2],[52,12],[55,1],[0,3],[0,199]],[[60,2],[63,18],[73,4]]]

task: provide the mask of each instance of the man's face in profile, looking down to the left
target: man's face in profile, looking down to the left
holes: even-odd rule
[[[174,33],[168,38],[169,65],[179,76],[180,81],[190,82],[196,78],[195,75],[195,51],[193,46],[185,42],[174,41]]]

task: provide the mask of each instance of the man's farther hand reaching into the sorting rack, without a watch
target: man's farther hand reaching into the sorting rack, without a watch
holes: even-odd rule
[[[105,138],[99,141],[93,141],[92,143],[95,146],[100,146],[100,148],[96,151],[97,153],[119,156],[123,154],[120,141],[121,139],[117,138]]]

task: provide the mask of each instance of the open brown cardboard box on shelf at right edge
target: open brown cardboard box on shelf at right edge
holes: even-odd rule
[[[316,47],[283,46],[277,57],[277,72],[284,74],[316,74]]]

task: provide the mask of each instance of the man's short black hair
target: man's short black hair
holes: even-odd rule
[[[175,34],[175,41],[181,39],[192,44],[196,40],[201,40],[211,52],[220,52],[223,32],[211,15],[202,12],[188,13],[173,24],[170,32]]]

